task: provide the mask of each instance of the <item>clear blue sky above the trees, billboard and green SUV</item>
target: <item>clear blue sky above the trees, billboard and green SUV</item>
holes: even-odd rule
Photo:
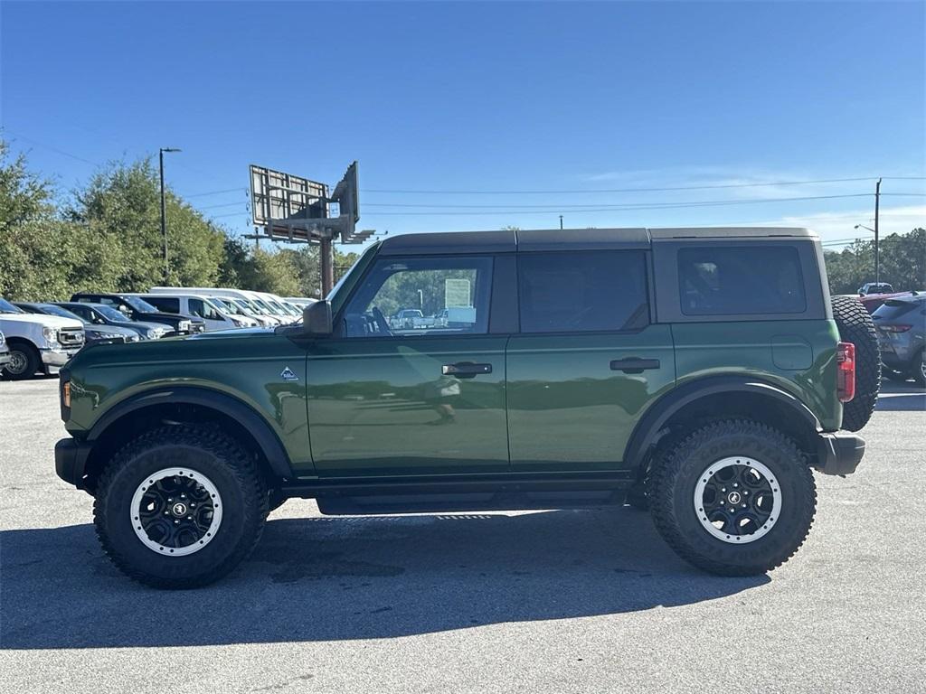
[[[870,225],[873,180],[709,186],[926,176],[921,2],[0,13],[2,124],[33,167],[67,192],[107,161],[181,147],[169,184],[237,233],[251,163],[334,183],[357,159],[359,226],[390,233],[563,214],[568,228],[781,223],[836,240]],[[926,181],[882,192],[883,229],[926,224]]]

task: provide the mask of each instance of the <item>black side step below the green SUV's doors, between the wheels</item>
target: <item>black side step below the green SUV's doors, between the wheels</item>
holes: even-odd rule
[[[325,515],[424,514],[619,506],[625,490],[472,491],[319,496]]]

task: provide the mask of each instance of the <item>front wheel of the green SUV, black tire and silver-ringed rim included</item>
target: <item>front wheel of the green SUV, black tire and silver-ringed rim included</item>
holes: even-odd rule
[[[154,588],[205,586],[260,538],[267,491],[250,456],[216,428],[162,427],[106,465],[94,502],[109,558]]]

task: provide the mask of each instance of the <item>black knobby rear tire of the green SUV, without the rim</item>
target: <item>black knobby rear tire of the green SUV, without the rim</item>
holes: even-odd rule
[[[694,490],[708,467],[732,456],[747,456],[768,467],[782,495],[774,525],[747,544],[711,535],[694,506]],[[659,534],[686,562],[720,576],[755,576],[788,561],[804,543],[817,489],[793,440],[764,424],[730,419],[695,429],[656,461],[648,497]]]

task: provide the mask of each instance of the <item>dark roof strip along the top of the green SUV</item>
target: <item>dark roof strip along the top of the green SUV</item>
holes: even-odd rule
[[[679,239],[816,239],[807,229],[707,227],[672,229],[502,229],[400,234],[384,239],[381,255],[511,253],[515,251],[602,251],[647,249],[652,242]]]

